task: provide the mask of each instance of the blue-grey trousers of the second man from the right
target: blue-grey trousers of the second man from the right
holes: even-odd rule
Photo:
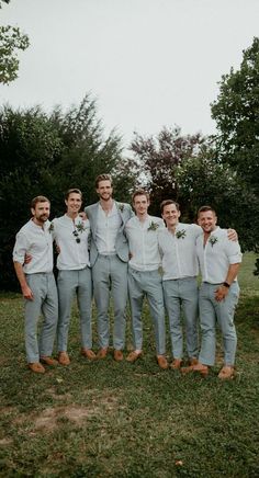
[[[198,282],[196,277],[184,277],[162,282],[166,309],[169,318],[172,354],[174,358],[183,355],[183,332],[181,308],[183,310],[187,353],[190,358],[198,357]]]

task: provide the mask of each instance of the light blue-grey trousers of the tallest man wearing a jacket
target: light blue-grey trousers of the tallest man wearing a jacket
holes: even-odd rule
[[[117,255],[99,254],[92,268],[93,295],[98,314],[98,335],[101,349],[110,342],[109,304],[113,299],[114,327],[113,346],[122,350],[125,345],[126,303],[127,303],[127,263]]]

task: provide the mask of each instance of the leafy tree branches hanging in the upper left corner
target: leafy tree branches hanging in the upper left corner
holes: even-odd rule
[[[2,0],[9,3],[10,0]],[[0,1],[0,9],[2,8]],[[29,37],[18,26],[0,26],[0,83],[9,84],[18,78],[19,59],[16,50],[29,47]]]

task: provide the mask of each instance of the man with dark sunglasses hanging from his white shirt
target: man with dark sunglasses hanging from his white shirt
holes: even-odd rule
[[[94,360],[92,349],[92,277],[90,270],[88,237],[90,224],[79,216],[82,205],[82,193],[71,189],[66,193],[67,212],[64,216],[52,221],[53,238],[58,247],[57,258],[57,288],[58,288],[58,326],[57,348],[58,361],[61,365],[69,365],[67,353],[68,330],[71,306],[75,295],[80,312],[81,353],[89,360]]]

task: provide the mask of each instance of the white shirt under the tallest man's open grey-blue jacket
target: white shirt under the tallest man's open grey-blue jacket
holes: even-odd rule
[[[97,248],[100,254],[115,253],[115,240],[121,224],[122,219],[115,203],[113,203],[113,207],[108,214],[99,204],[95,235]]]

